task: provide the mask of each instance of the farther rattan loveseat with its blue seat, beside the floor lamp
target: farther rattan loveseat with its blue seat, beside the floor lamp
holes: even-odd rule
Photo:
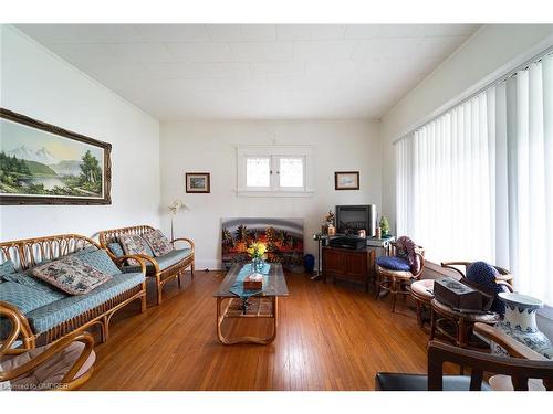
[[[155,229],[149,225],[136,225],[132,227],[112,229],[100,232],[98,238],[102,247],[106,248],[113,258],[117,258],[117,252],[123,251],[119,243],[119,237],[123,234],[144,235],[153,232]],[[157,287],[157,304],[161,302],[161,290],[165,284],[174,278],[177,279],[180,288],[180,275],[187,268],[190,268],[191,278],[194,279],[194,242],[190,238],[175,238],[170,241],[176,247],[177,242],[185,242],[189,245],[188,248],[175,248],[173,252],[164,256],[153,257],[153,255],[138,255],[146,263],[146,276],[155,277]],[[113,247],[117,247],[115,251]],[[127,266],[125,272],[134,270],[133,266]]]

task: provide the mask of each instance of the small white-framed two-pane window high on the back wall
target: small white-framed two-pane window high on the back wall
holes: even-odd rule
[[[238,194],[311,195],[311,148],[248,146],[238,148]]]

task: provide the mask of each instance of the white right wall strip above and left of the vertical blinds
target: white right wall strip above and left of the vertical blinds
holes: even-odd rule
[[[553,24],[484,25],[382,120],[383,209],[395,229],[395,159],[393,141],[460,96],[522,64],[553,44]]]

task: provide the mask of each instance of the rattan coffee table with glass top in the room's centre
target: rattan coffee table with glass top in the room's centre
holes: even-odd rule
[[[276,338],[279,296],[288,296],[286,279],[282,272],[282,265],[271,263],[269,274],[263,282],[263,290],[248,299],[240,298],[230,291],[242,267],[241,264],[233,265],[219,289],[213,294],[213,297],[217,298],[217,338],[223,344],[269,344]],[[265,338],[251,336],[228,338],[222,335],[221,330],[227,318],[269,318],[272,320],[272,332]]]

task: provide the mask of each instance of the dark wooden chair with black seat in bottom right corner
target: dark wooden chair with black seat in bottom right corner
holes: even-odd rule
[[[529,390],[529,379],[541,379],[545,390],[553,390],[553,360],[546,359],[488,325],[476,323],[474,332],[500,344],[509,352],[509,357],[491,355],[429,341],[427,375],[378,372],[375,389],[380,391],[489,391],[492,388],[483,381],[483,374],[487,372],[499,374],[495,378],[509,376],[511,390],[514,391]],[[471,375],[444,375],[445,362],[469,367]],[[492,380],[493,376],[489,382],[493,383]]]

